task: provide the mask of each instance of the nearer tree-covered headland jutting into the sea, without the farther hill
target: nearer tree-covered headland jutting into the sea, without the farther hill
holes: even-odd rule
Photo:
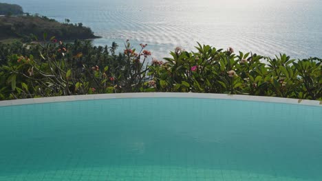
[[[82,23],[59,23],[46,16],[0,16],[0,40],[21,38],[24,42],[43,40],[43,33],[61,40],[98,38]]]

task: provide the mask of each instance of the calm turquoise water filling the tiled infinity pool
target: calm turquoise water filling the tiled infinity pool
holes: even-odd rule
[[[1,181],[321,181],[322,108],[188,98],[0,107]]]

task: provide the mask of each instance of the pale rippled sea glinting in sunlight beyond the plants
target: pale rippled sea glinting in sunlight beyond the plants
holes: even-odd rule
[[[322,57],[321,0],[4,0],[25,12],[83,23],[122,51],[125,40],[147,43],[153,57],[197,42],[264,56]]]

